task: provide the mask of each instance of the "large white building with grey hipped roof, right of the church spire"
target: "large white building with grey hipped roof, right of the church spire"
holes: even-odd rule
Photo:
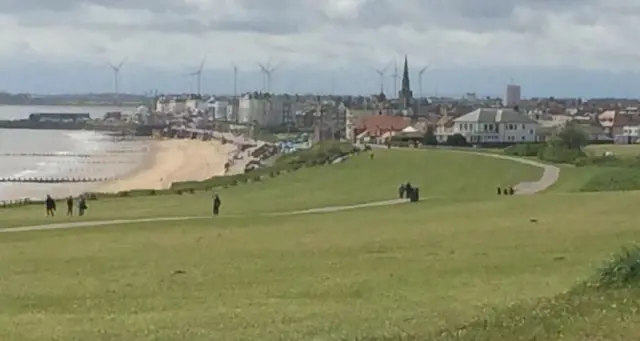
[[[483,108],[453,120],[452,134],[468,143],[536,142],[537,121],[513,109]]]

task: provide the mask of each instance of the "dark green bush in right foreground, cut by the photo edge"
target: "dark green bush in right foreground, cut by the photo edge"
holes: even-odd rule
[[[640,285],[640,247],[627,247],[614,255],[600,269],[593,284],[614,289]]]

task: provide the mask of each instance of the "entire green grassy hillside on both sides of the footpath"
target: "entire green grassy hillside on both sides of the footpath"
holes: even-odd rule
[[[0,233],[0,340],[637,339],[640,257],[609,267],[626,286],[583,283],[640,239],[640,192],[572,193],[561,173],[548,193],[495,195],[539,176],[376,150],[223,190],[216,219]],[[427,199],[259,215],[393,199],[407,180]],[[87,219],[206,215],[210,195],[99,200]],[[42,213],[0,211],[8,226],[67,220]]]

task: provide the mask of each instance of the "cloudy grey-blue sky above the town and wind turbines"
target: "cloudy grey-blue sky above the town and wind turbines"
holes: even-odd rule
[[[639,97],[629,0],[0,0],[0,90],[371,94],[409,58],[416,95]],[[418,72],[427,67],[419,86]],[[401,71],[401,70],[400,70]],[[400,72],[401,73],[401,72]],[[420,91],[422,88],[422,91]]]

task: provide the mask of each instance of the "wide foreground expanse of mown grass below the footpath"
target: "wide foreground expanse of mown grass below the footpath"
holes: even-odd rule
[[[454,340],[531,340],[530,331],[559,339],[552,332],[560,330],[578,341],[585,328],[608,333],[603,340],[637,336],[633,320],[620,323],[615,309],[602,314],[610,298],[595,294],[580,311],[599,324],[579,324],[572,311],[511,326],[535,317],[528,308],[545,307],[539,298],[590,279],[611,251],[638,240],[638,199],[492,196],[3,233],[0,339],[423,340],[478,316],[495,333],[472,323],[477,334]],[[562,312],[562,302],[549,309]]]

